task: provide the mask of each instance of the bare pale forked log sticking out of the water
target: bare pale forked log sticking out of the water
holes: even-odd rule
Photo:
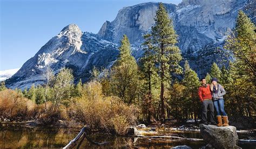
[[[92,140],[87,136],[87,134],[86,134],[86,130],[87,130],[87,129],[89,129],[88,126],[83,127],[83,129],[77,134],[76,138],[74,138],[73,140],[71,140],[71,141],[69,142],[69,144],[66,145],[66,146],[63,147],[63,148],[72,148],[72,147],[76,146],[76,145],[77,145],[77,141],[78,141],[80,138],[82,138],[82,140],[80,141],[80,143],[79,143],[79,145],[78,145],[78,148],[79,148],[79,146],[80,146],[80,144],[82,143],[82,141],[83,141],[84,138],[86,138],[90,143],[95,144],[95,145],[105,145],[105,144],[108,143],[108,142],[97,143],[97,142],[95,142],[95,141],[92,141]]]

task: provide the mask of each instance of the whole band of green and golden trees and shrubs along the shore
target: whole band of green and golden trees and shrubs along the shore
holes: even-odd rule
[[[113,67],[94,68],[90,81],[84,84],[81,80],[73,84],[71,69],[64,68],[54,75],[50,67],[45,69],[42,86],[10,90],[2,82],[0,118],[40,119],[45,124],[73,120],[120,134],[137,120],[197,121],[201,110],[200,81],[188,61],[184,67],[180,66],[183,58],[177,38],[172,20],[160,3],[155,24],[144,36],[144,55],[138,62],[131,55],[129,39],[124,35]],[[225,110],[230,116],[255,116],[255,42],[255,25],[239,11],[235,29],[228,32],[223,49],[231,51],[235,60],[221,68],[213,63],[205,76],[207,83],[217,77],[224,86]]]

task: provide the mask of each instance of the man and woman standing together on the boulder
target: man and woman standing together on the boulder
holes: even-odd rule
[[[228,126],[227,114],[224,110],[224,98],[226,94],[223,86],[218,84],[218,79],[213,77],[211,84],[207,84],[205,78],[201,79],[201,86],[198,89],[200,101],[203,103],[202,121],[203,124],[208,125],[207,122],[207,108],[210,107],[210,124],[217,126]],[[217,111],[218,124],[214,120],[214,108]],[[223,119],[223,120],[222,120]],[[224,123],[223,123],[224,121]]]

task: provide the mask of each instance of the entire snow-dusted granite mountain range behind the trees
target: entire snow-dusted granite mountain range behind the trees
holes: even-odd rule
[[[43,73],[50,66],[55,73],[64,67],[72,68],[75,81],[90,77],[93,66],[111,67],[118,55],[123,34],[132,44],[132,54],[138,60],[142,54],[143,34],[150,31],[158,3],[143,3],[119,10],[116,19],[106,21],[98,34],[80,31],[70,24],[49,40],[33,58],[6,80],[10,88],[30,87],[44,83]],[[199,76],[204,76],[212,62],[225,65],[225,51],[221,49],[227,28],[235,26],[239,9],[244,10],[255,23],[253,0],[183,0],[181,4],[165,4],[179,36],[178,46],[184,59]],[[217,48],[217,47],[220,47]]]

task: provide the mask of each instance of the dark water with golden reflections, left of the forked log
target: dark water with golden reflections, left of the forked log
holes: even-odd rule
[[[0,126],[0,148],[63,147],[76,131],[54,127]]]

